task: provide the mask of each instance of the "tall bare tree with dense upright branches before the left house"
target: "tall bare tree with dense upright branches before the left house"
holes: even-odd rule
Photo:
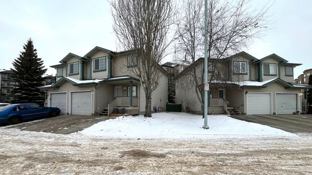
[[[145,92],[145,116],[151,117],[152,93],[159,84],[159,64],[171,41],[171,0],[115,0],[111,2],[114,31],[121,49],[137,59],[131,71],[140,79]]]

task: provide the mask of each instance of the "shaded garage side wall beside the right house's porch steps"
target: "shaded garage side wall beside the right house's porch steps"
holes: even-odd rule
[[[244,94],[242,89],[236,86],[226,88],[226,100],[229,102],[228,107],[235,107],[242,113],[244,112]]]

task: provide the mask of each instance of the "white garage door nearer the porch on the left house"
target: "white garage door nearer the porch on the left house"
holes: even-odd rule
[[[71,114],[91,115],[91,92],[71,93]]]

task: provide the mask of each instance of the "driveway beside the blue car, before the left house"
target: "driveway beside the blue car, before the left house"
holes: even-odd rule
[[[114,119],[116,117],[107,116],[84,116],[84,115],[60,115],[56,117],[44,118],[23,122],[16,125],[3,126],[6,128],[16,128],[27,131],[42,131],[57,134],[70,134],[81,131],[95,123]]]

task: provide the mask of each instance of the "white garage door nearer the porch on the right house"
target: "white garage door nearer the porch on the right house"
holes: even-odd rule
[[[247,114],[271,114],[270,93],[247,93]]]

